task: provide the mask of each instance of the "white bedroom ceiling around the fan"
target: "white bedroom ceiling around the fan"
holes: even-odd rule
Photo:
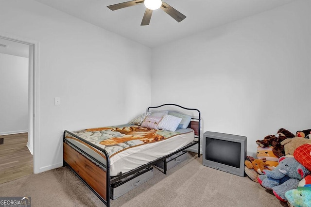
[[[108,5],[127,0],[37,0],[153,48],[176,39],[227,24],[290,3],[293,0],[163,0],[187,18],[178,23],[161,9],[149,26],[140,26],[143,4],[111,11]]]

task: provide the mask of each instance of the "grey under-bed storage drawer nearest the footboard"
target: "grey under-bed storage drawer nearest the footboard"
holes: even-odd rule
[[[147,182],[154,176],[153,167],[146,168],[135,175],[124,178],[121,181],[113,183],[110,187],[110,198],[117,199],[128,191],[131,191],[139,185]]]

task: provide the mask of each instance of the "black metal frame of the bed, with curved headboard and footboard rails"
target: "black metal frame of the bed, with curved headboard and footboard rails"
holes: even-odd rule
[[[176,106],[176,107],[180,107],[184,110],[190,110],[190,111],[197,111],[198,113],[198,118],[191,118],[191,121],[190,121],[190,124],[188,127],[191,128],[191,126],[194,128],[194,131],[195,131],[195,135],[194,135],[194,138],[197,138],[197,141],[192,141],[191,143],[187,144],[186,146],[184,147],[181,147],[179,148],[178,150],[176,150],[175,152],[171,153],[171,154],[168,154],[164,157],[161,157],[161,158],[158,158],[158,159],[155,159],[154,161],[151,161],[147,164],[144,164],[134,170],[131,170],[129,172],[126,172],[126,173],[122,173],[120,172],[119,175],[117,176],[111,176],[110,177],[110,174],[109,174],[109,171],[110,171],[110,165],[109,165],[109,156],[108,156],[108,153],[106,152],[106,150],[104,150],[103,148],[100,148],[99,146],[93,144],[93,143],[90,143],[82,138],[80,138],[79,136],[71,133],[70,131],[68,130],[65,130],[64,131],[64,134],[63,134],[63,145],[64,145],[64,159],[63,159],[63,166],[68,166],[74,173],[75,175],[77,175],[85,184],[86,186],[92,191],[94,192],[94,194],[107,206],[107,207],[110,207],[110,187],[112,184],[120,181],[121,179],[123,178],[126,178],[128,177],[129,175],[133,175],[133,174],[136,174],[138,173],[139,171],[141,170],[144,170],[144,169],[149,169],[151,167],[151,165],[154,165],[155,163],[157,162],[160,162],[160,161],[163,161],[163,173],[166,174],[167,173],[167,161],[166,159],[173,156],[174,154],[176,153],[179,153],[195,144],[198,144],[198,157],[200,157],[200,127],[201,127],[201,112],[198,110],[198,109],[190,109],[190,108],[185,108],[185,107],[182,107],[182,106],[179,106],[177,104],[163,104],[163,105],[160,105],[160,106],[155,106],[155,107],[149,107],[147,109],[147,111],[149,111],[150,109],[156,109],[156,108],[160,108],[160,107],[164,107],[164,106]],[[194,121],[192,121],[194,120]],[[196,124],[195,124],[196,123]],[[86,153],[85,151],[79,149],[77,146],[75,146],[73,143],[69,143],[67,140],[66,140],[66,133],[70,134],[71,136],[77,138],[78,140],[82,141],[83,143],[86,143],[94,148],[96,148],[97,150],[101,151],[102,153],[104,153],[104,156],[105,156],[105,159],[106,159],[106,163],[102,163],[100,162],[99,160],[97,159],[94,159],[92,156],[90,156],[88,153]],[[90,184],[86,181],[86,179],[81,176],[79,174],[79,171],[76,172],[75,169],[73,169],[72,166],[70,166],[70,164],[68,163],[67,160],[65,160],[65,144],[68,144],[69,147],[73,148],[77,153],[81,154],[83,153],[84,157],[87,157],[88,159],[92,159],[93,161],[95,161],[96,163],[100,164],[102,167],[105,168],[105,174],[106,174],[106,185],[105,185],[105,188],[106,188],[106,193],[105,193],[105,197],[106,199],[103,198],[102,195],[99,194],[99,192],[95,191],[92,186],[90,186]],[[94,163],[93,163],[94,164]],[[94,164],[95,165],[95,164]]]

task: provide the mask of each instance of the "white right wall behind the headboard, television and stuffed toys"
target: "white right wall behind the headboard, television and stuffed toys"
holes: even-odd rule
[[[202,131],[256,140],[311,127],[311,11],[297,1],[153,49],[152,105],[198,108]],[[165,61],[157,61],[165,60]]]

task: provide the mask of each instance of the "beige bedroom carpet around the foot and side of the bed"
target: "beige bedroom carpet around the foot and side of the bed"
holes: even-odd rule
[[[111,200],[112,207],[287,207],[248,177],[202,165],[192,157],[164,175]],[[103,203],[67,167],[0,184],[0,196],[30,196],[32,207],[99,207]]]

